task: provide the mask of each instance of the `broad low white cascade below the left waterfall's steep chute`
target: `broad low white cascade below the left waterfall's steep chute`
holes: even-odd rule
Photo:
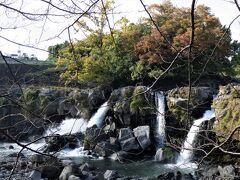
[[[87,128],[87,121],[80,118],[80,119],[65,119],[58,127],[49,128],[46,131],[46,134],[74,134],[78,132],[84,132]]]

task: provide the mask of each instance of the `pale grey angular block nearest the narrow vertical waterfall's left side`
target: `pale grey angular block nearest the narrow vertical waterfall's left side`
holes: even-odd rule
[[[138,126],[133,129],[133,132],[143,150],[151,145],[149,126]]]

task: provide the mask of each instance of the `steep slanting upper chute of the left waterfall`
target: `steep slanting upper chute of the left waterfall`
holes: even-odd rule
[[[101,107],[97,110],[97,112],[91,117],[88,122],[87,127],[92,127],[93,125],[97,125],[97,127],[101,127],[103,124],[103,120],[109,110],[108,102],[105,102]]]

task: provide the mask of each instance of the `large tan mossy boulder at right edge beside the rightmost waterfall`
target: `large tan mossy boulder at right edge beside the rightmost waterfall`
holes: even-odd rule
[[[224,139],[240,125],[240,85],[221,86],[212,107],[216,115],[213,130],[221,139]],[[238,132],[239,130],[232,137],[240,141]]]

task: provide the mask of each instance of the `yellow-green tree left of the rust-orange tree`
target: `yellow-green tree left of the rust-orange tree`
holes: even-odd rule
[[[91,29],[83,21],[79,22],[79,26],[90,34],[83,40],[73,42],[72,47],[62,49],[57,65],[66,68],[61,75],[66,83],[131,82],[131,69],[138,61],[134,46],[143,34],[150,32],[150,26],[147,23],[133,24],[122,18],[117,22],[119,29],[105,32],[106,19],[102,16],[93,18],[97,30]]]

